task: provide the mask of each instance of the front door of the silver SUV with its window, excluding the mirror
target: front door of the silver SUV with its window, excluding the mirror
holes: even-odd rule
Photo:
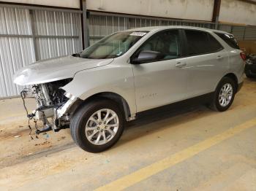
[[[184,69],[186,62],[181,58],[179,30],[154,34],[140,46],[132,58],[138,58],[144,50],[160,52],[163,57],[146,63],[132,64],[137,112],[187,98],[187,74]]]

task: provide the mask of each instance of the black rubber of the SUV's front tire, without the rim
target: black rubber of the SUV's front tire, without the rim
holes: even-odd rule
[[[116,112],[119,121],[118,130],[116,131],[115,136],[113,136],[113,138],[110,139],[110,141],[108,141],[106,144],[101,145],[92,144],[86,137],[86,122],[89,120],[89,117],[91,117],[91,115],[94,114],[94,112],[97,112],[99,109],[113,110],[113,112]],[[70,133],[72,139],[81,149],[87,152],[102,152],[109,149],[116,144],[124,131],[124,114],[121,111],[122,110],[119,108],[118,104],[109,99],[97,99],[90,101],[87,104],[83,104],[83,106],[80,106],[80,108],[78,108],[78,110],[72,116],[70,122]]]

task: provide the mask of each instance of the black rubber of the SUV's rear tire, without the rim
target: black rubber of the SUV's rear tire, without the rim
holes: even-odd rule
[[[230,99],[229,104],[227,104],[227,106],[222,106],[219,103],[219,93],[220,93],[222,87],[226,84],[230,84],[232,86],[233,95],[232,95],[232,98]],[[211,101],[210,108],[213,109],[214,111],[217,111],[217,112],[225,112],[231,106],[231,104],[233,103],[233,100],[234,100],[235,94],[236,94],[236,87],[237,87],[236,82],[234,82],[233,79],[231,79],[229,77],[223,77],[222,80],[217,85],[217,88],[214,92],[214,98]]]

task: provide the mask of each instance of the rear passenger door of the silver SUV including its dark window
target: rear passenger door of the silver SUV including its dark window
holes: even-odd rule
[[[187,60],[187,98],[211,93],[228,69],[228,55],[210,33],[184,30]]]

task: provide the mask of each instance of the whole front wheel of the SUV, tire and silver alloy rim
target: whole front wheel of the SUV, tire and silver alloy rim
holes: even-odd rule
[[[110,120],[111,117],[113,120]],[[120,139],[123,131],[124,114],[116,102],[109,99],[97,99],[83,104],[70,122],[72,139],[87,152],[102,152],[109,149]]]

